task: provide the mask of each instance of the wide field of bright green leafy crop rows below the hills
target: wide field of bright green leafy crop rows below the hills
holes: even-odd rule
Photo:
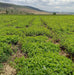
[[[74,75],[73,61],[74,15],[0,15],[0,73]]]

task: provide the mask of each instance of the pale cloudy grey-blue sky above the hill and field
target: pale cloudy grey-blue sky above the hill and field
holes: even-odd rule
[[[46,11],[74,12],[74,0],[0,0],[19,5],[27,5]]]

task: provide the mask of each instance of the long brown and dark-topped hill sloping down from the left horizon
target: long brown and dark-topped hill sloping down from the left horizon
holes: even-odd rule
[[[50,14],[30,6],[21,6],[0,2],[0,14]]]

